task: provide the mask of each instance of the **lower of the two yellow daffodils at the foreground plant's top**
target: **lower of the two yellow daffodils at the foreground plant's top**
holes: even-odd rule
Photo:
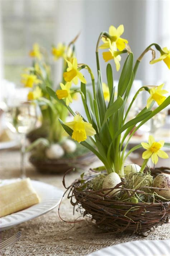
[[[110,61],[110,59],[114,59],[116,70],[119,71],[121,65],[119,61],[121,61],[121,56],[119,55],[119,52],[117,51],[116,43],[109,40],[110,49],[109,52],[103,52],[103,59],[105,62]]]

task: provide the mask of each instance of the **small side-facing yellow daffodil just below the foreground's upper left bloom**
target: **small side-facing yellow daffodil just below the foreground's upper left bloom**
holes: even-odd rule
[[[57,97],[59,100],[66,99],[66,105],[68,106],[70,102],[72,103],[72,98],[70,94],[71,83],[66,83],[66,85],[60,83],[60,86],[62,90],[56,91]]]

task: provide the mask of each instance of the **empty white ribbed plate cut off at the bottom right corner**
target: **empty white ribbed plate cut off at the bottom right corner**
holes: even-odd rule
[[[88,256],[169,256],[170,240],[139,240],[109,246]]]

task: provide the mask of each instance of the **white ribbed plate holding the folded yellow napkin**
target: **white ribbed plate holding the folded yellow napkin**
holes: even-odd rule
[[[1,180],[1,185],[9,184],[11,180]],[[14,180],[12,180],[13,182]],[[16,179],[15,179],[16,181]],[[10,214],[0,218],[0,231],[9,229],[24,221],[35,219],[52,209],[61,201],[63,192],[55,186],[40,181],[31,180],[32,186],[41,199],[39,204],[35,204],[23,211]]]

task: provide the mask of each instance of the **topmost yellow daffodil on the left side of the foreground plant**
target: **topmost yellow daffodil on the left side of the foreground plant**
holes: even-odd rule
[[[84,84],[86,84],[86,79],[84,76],[80,73],[80,71],[77,69],[77,58],[74,58],[72,63],[66,59],[66,62],[68,64],[67,72],[63,73],[63,78],[66,82],[73,81],[74,84],[78,84],[78,78],[80,81]]]

